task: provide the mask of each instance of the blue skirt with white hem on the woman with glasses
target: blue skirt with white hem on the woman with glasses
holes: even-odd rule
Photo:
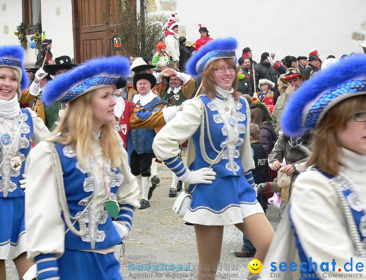
[[[194,185],[190,185],[192,190]],[[244,176],[216,177],[212,184],[199,184],[184,220],[205,226],[240,223],[248,216],[264,213],[256,191]]]

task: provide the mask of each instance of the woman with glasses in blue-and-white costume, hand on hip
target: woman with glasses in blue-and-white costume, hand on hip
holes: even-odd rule
[[[197,184],[183,218],[196,232],[197,279],[215,279],[224,226],[235,225],[246,234],[260,261],[274,235],[253,189],[249,105],[233,90],[238,82],[236,48],[233,38],[211,41],[187,63],[191,76],[203,76],[204,94],[186,101],[182,112],[163,127],[153,143],[157,158],[190,191]],[[179,144],[190,137],[186,166],[177,155]]]

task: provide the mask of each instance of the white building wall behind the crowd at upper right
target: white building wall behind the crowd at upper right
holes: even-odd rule
[[[155,6],[153,3],[148,15],[176,12],[179,33],[187,41],[199,38],[201,23],[214,39],[235,37],[239,42],[237,55],[244,47],[252,48],[257,62],[264,51],[275,52],[280,60],[285,55],[308,56],[312,48],[322,59],[329,54],[339,59],[342,54],[361,53],[359,44],[366,42],[364,37],[361,41],[352,39],[355,32],[366,34],[364,0],[145,0],[150,7],[153,1]],[[162,11],[167,2],[172,10]]]

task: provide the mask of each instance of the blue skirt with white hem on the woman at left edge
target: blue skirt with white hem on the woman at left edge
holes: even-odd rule
[[[25,251],[24,197],[0,198],[0,260],[14,260]]]

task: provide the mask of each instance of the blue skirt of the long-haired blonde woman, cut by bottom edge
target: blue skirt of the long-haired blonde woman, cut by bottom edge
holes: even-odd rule
[[[104,255],[65,249],[64,255],[57,259],[57,263],[61,280],[123,280],[119,273],[119,262],[113,252]]]

